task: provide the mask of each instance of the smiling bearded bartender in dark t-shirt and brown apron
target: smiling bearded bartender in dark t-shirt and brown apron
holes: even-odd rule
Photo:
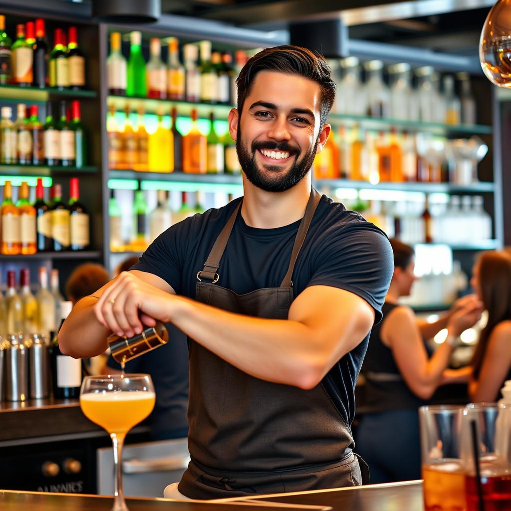
[[[80,301],[60,349],[90,357],[112,331],[130,337],[155,320],[188,335],[191,462],[166,496],[358,485],[354,388],[392,250],[380,229],[311,187],[335,99],[323,57],[263,50],[237,86],[228,121],[244,196],[173,225]]]

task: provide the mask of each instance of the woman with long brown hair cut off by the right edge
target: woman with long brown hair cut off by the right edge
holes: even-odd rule
[[[469,396],[473,402],[496,401],[504,382],[511,379],[510,253],[482,253],[470,283],[484,304],[488,321],[472,358]]]

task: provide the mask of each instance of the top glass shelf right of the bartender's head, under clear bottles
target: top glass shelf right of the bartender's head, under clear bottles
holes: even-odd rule
[[[363,128],[388,130],[391,127],[407,129],[409,131],[425,131],[438,135],[487,135],[492,133],[492,126],[487,125],[452,125],[442,123],[427,123],[422,121],[403,121],[399,119],[383,119],[368,117],[366,115],[345,115],[331,113],[328,121],[334,125],[356,125]]]

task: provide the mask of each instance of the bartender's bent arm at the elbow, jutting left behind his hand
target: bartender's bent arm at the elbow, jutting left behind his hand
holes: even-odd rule
[[[59,347],[65,355],[88,358],[106,350],[106,338],[111,332],[99,323],[92,310],[97,301],[92,296],[82,298],[64,321],[59,332]]]

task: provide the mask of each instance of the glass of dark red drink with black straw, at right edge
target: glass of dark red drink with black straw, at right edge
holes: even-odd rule
[[[475,446],[477,446],[479,471],[476,470]],[[511,405],[509,403],[467,405],[461,420],[461,457],[466,471],[467,511],[479,511],[482,508],[484,511],[511,509]],[[479,495],[482,496],[483,507],[480,506]]]

